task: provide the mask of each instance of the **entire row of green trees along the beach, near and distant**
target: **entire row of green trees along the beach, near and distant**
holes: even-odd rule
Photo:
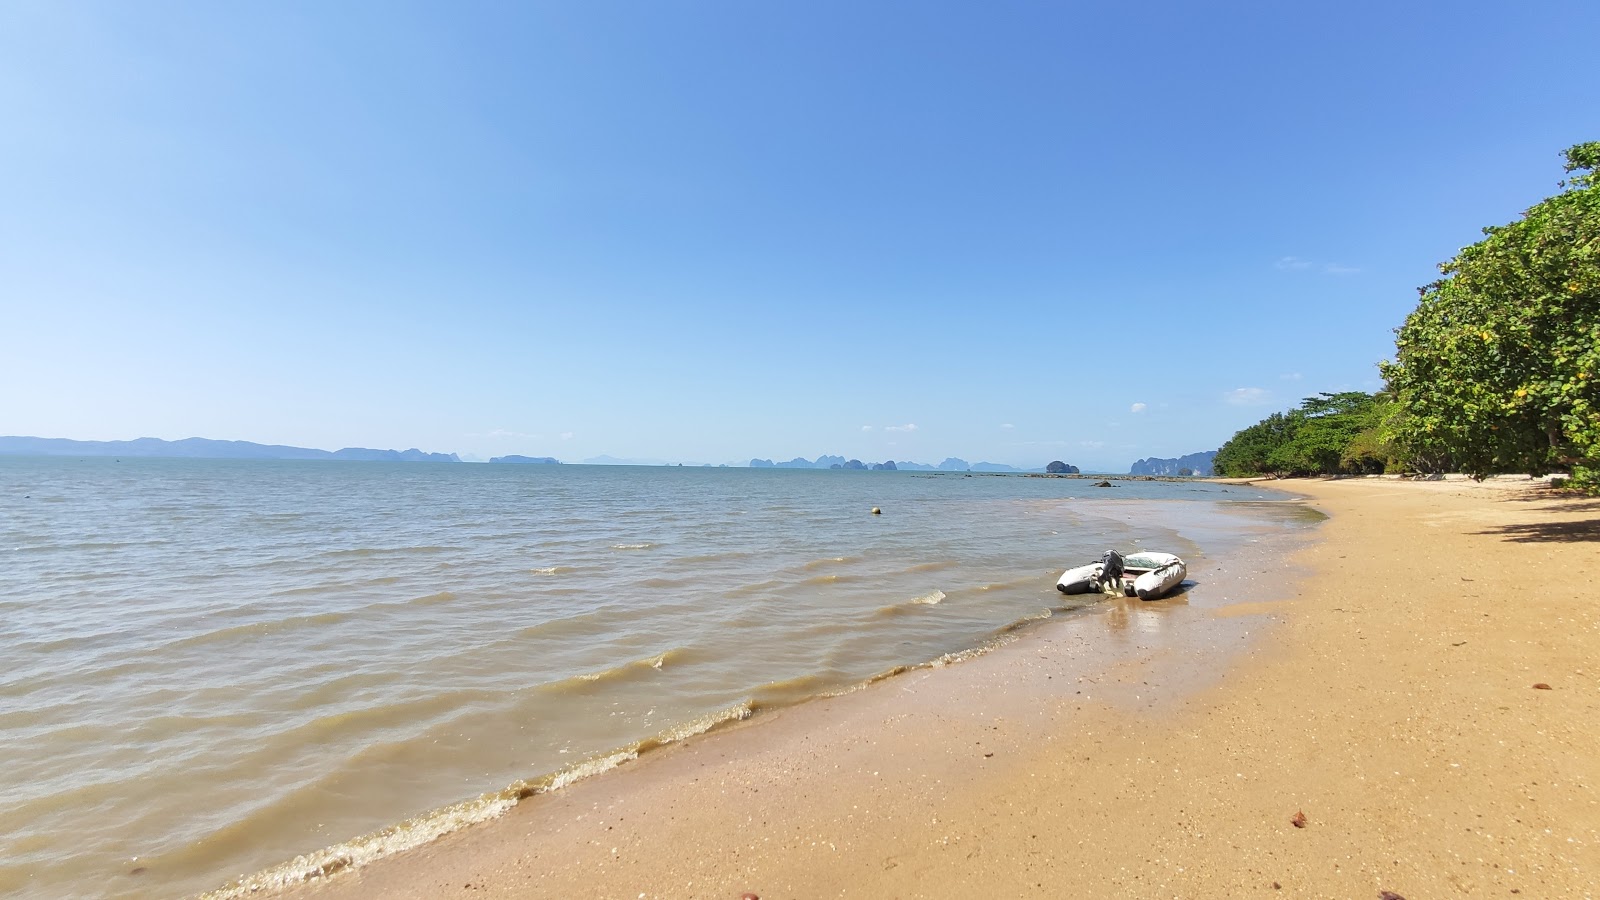
[[[1546,474],[1600,492],[1600,141],[1562,192],[1440,264],[1395,328],[1387,389],[1307,397],[1216,453],[1216,472]]]

